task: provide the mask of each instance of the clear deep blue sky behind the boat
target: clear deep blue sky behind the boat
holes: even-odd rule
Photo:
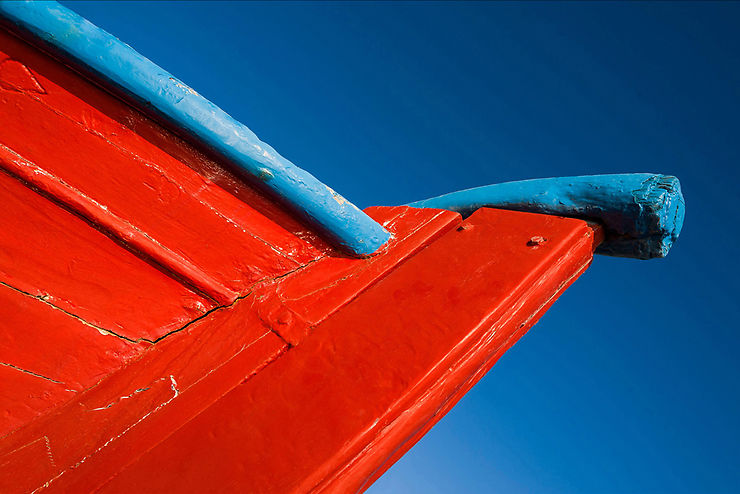
[[[65,3],[361,207],[678,176],[370,492],[740,492],[740,3]]]

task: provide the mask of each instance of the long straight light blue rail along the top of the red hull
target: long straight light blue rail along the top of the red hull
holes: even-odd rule
[[[2,1],[0,16],[224,157],[348,253],[372,254],[390,237],[354,204],[280,156],[246,126],[57,2]]]

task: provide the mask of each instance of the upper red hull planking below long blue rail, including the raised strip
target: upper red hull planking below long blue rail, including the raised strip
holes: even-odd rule
[[[219,187],[204,171],[228,173],[178,138],[2,31],[0,107],[1,167],[221,303],[326,251],[259,194]]]

